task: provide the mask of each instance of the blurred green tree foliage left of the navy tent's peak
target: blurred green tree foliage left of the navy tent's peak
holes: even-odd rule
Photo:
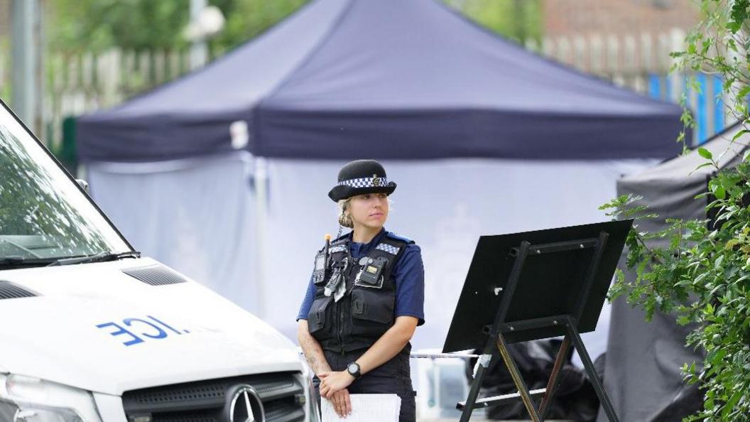
[[[223,51],[242,44],[304,5],[307,0],[208,0],[226,26],[209,47]],[[186,47],[182,34],[190,0],[49,0],[49,47],[102,51]]]

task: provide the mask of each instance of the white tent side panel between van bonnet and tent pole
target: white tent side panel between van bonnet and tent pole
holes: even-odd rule
[[[133,248],[255,312],[249,158],[238,152],[86,170],[92,197]]]

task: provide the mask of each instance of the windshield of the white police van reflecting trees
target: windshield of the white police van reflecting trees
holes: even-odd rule
[[[131,251],[89,198],[2,105],[0,262]]]

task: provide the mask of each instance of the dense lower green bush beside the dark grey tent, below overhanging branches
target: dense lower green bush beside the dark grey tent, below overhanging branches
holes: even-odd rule
[[[713,160],[707,150],[698,153]],[[664,228],[652,233],[634,225],[625,251],[634,276],[618,270],[609,291],[610,300],[624,296],[646,319],[670,313],[676,324],[692,327],[686,340],[706,351],[706,358],[685,363],[683,372],[685,381],[700,383],[706,395],[703,411],[687,420],[750,420],[750,211],[742,205],[748,180],[747,161],[710,179],[715,200],[706,211],[716,210],[721,224],[715,228],[709,229],[706,219],[662,219]],[[632,195],[600,209],[615,219],[659,219],[643,198]]]

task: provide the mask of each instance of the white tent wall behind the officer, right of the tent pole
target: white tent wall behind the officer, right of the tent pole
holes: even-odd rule
[[[480,235],[606,221],[598,206],[616,196],[620,176],[655,160],[381,161],[391,195],[386,228],[415,240],[425,263],[425,320],[415,348],[442,348]],[[295,338],[295,318],[338,208],[327,193],[346,161],[269,159],[269,239],[264,319]],[[595,333],[583,334],[592,357],[606,349],[609,305]]]

